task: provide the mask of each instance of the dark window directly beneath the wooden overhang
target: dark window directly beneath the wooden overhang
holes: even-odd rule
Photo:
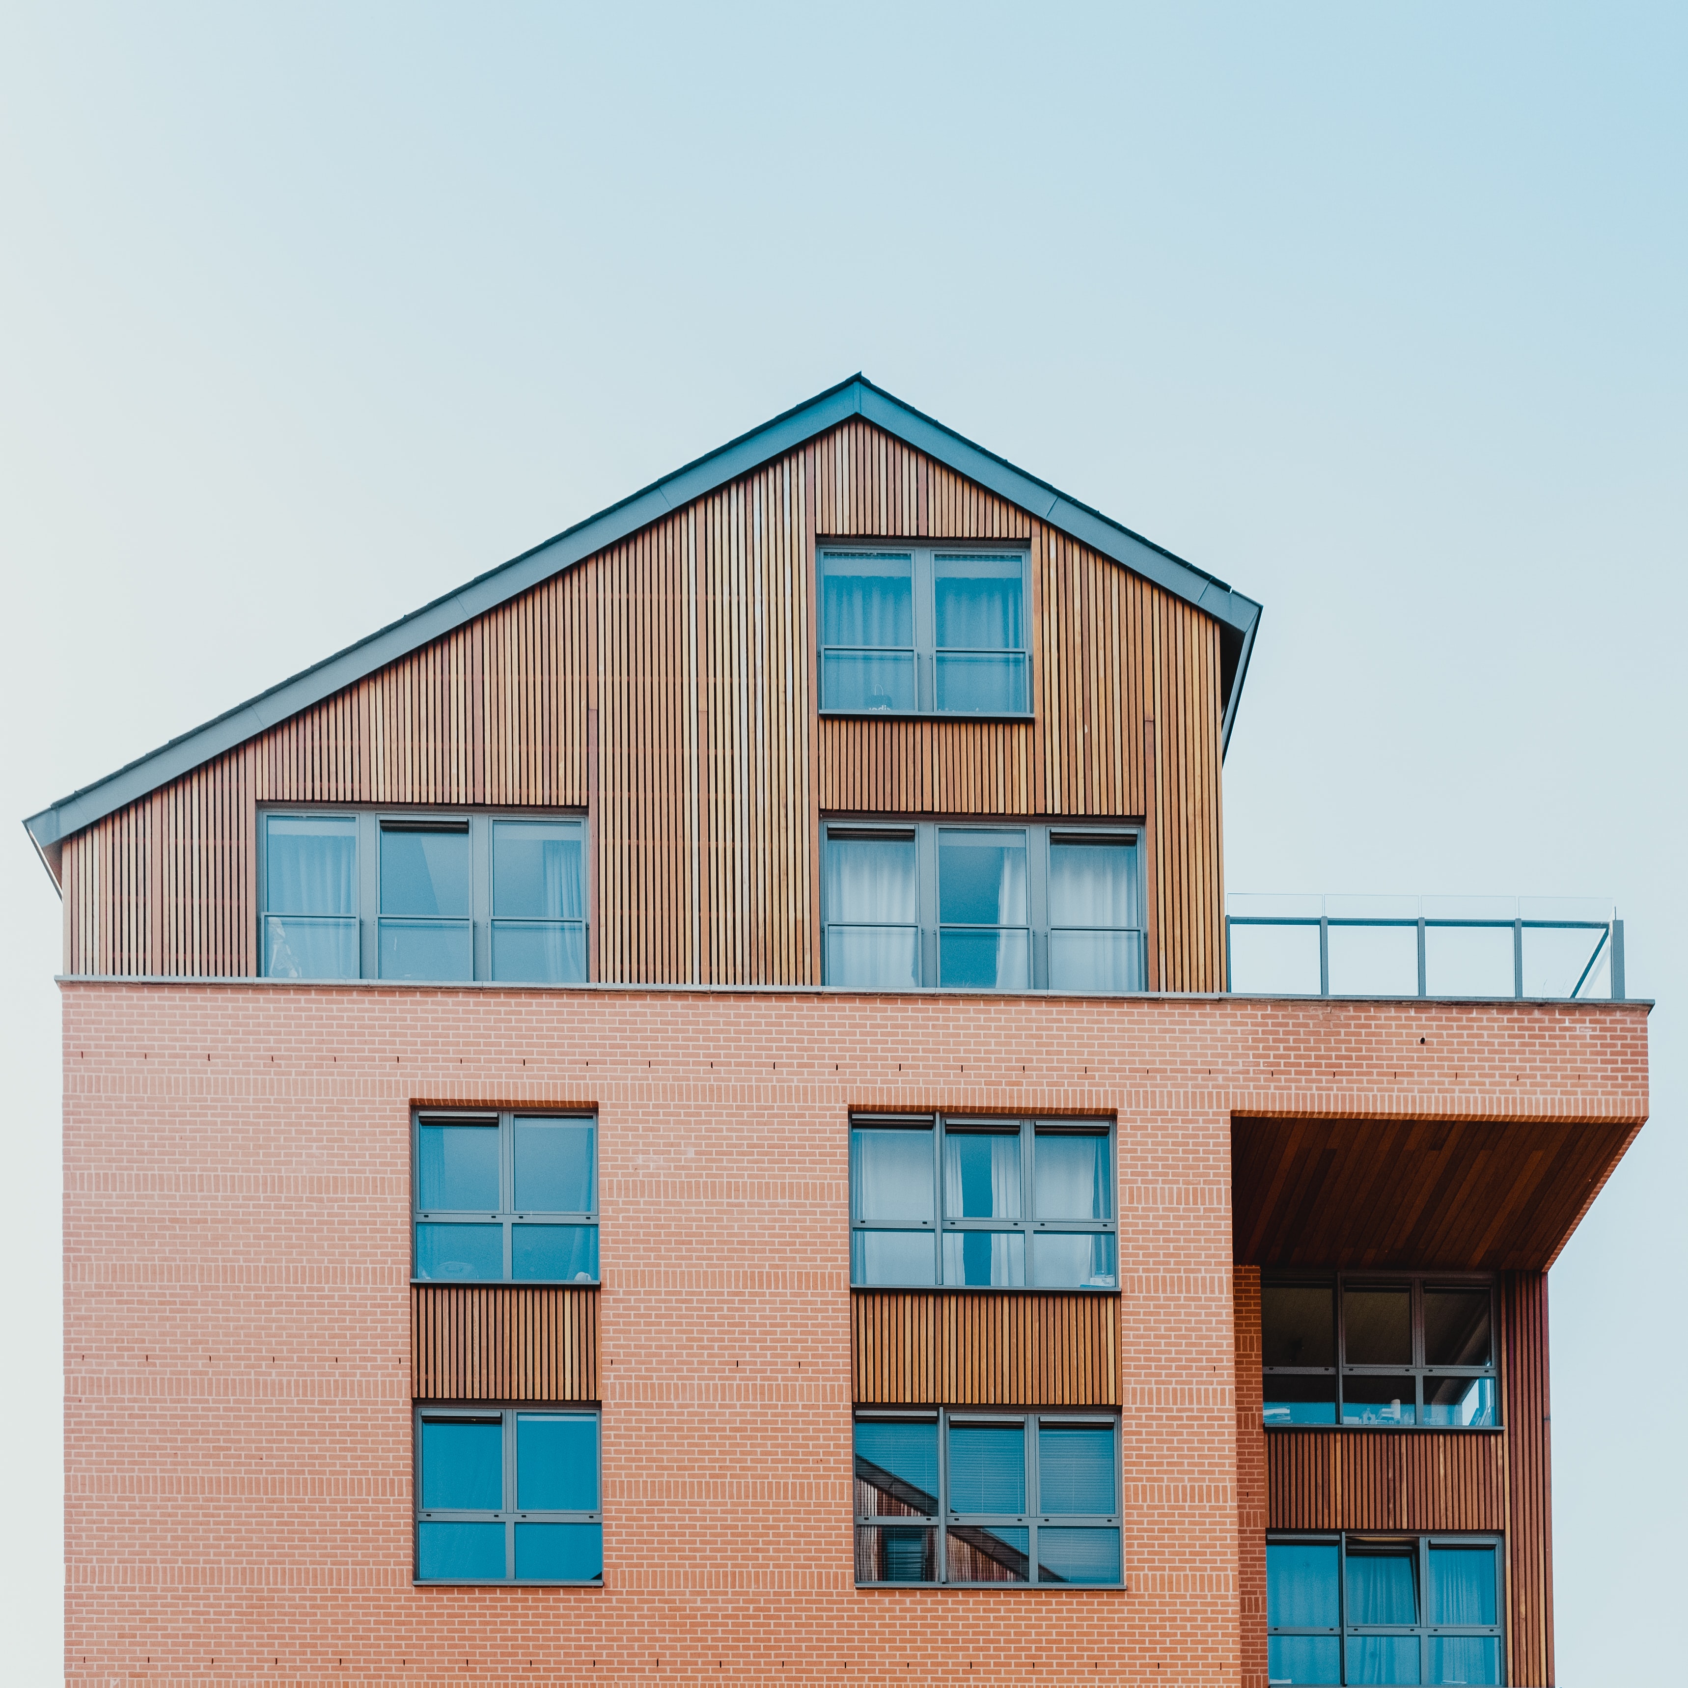
[[[1268,1425],[1501,1423],[1487,1278],[1268,1278],[1261,1350]]]

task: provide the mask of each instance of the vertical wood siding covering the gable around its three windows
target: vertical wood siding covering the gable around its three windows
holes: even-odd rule
[[[817,721],[815,535],[1025,542],[1036,717]],[[586,809],[596,976],[653,984],[817,981],[822,810],[1153,814],[1158,979],[1219,989],[1219,675],[1210,618],[846,422],[68,839],[66,971],[257,972],[265,802]]]

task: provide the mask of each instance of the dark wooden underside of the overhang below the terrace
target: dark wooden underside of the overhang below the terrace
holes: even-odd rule
[[[1639,1129],[1634,1117],[1236,1117],[1236,1259],[1545,1271]]]

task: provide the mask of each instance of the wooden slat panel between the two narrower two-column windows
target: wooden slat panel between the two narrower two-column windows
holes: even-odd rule
[[[417,1401],[598,1401],[598,1290],[410,1286]]]

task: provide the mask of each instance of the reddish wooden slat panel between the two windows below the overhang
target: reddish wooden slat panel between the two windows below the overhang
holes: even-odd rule
[[[1273,1430],[1268,1529],[1506,1528],[1506,1445],[1482,1430]]]

